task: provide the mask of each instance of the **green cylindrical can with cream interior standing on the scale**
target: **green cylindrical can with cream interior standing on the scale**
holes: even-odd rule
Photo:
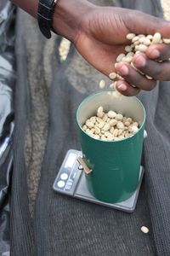
[[[119,141],[103,141],[90,137],[82,130],[88,118],[114,110],[139,122],[139,131]],[[103,90],[88,96],[77,109],[82,158],[90,173],[86,173],[88,190],[99,201],[116,203],[127,200],[137,189],[144,141],[145,110],[135,96],[113,98]]]

